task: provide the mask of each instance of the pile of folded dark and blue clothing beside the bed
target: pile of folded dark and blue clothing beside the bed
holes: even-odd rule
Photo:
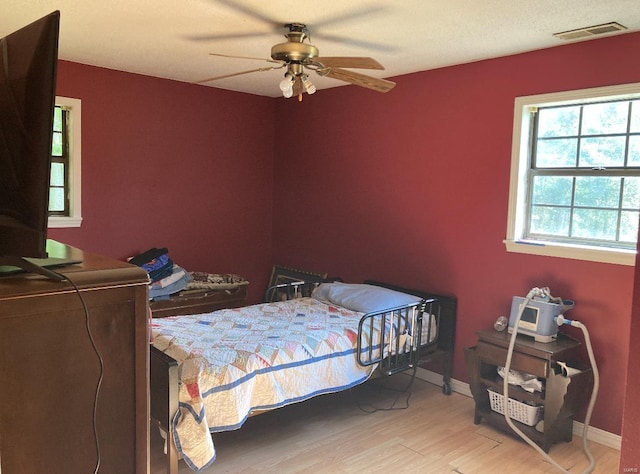
[[[186,288],[192,280],[184,268],[169,258],[167,248],[152,248],[129,259],[129,263],[142,267],[149,275],[149,299],[169,299]]]

